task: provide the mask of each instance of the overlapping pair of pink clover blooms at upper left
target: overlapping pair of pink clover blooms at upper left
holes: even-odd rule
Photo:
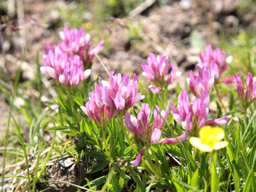
[[[57,47],[45,44],[44,66],[40,70],[62,84],[77,85],[90,76],[91,69],[84,68],[91,67],[94,54],[103,49],[104,39],[90,51],[90,35],[85,35],[83,29],[69,31],[66,26],[59,35],[62,43]]]

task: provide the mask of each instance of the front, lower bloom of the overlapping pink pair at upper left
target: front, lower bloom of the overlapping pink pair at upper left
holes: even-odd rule
[[[44,55],[44,66],[40,70],[65,85],[77,85],[91,74],[91,69],[84,70],[78,55],[67,55],[58,47]]]

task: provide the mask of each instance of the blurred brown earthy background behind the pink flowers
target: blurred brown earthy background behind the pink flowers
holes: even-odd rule
[[[139,75],[149,52],[168,55],[184,72],[195,68],[208,43],[229,47],[228,55],[233,44],[255,45],[255,13],[253,0],[8,0],[0,2],[0,26],[13,76],[26,47],[25,81],[36,74],[37,52],[43,65],[43,43],[57,45],[58,32],[66,25],[90,33],[94,46],[105,37],[101,58],[109,70]],[[2,54],[0,61],[3,67]],[[92,69],[93,79],[107,77],[97,59]]]

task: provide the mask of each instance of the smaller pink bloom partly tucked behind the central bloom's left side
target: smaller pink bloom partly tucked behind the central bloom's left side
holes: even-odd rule
[[[85,106],[81,106],[80,108],[89,119],[94,121],[102,129],[105,129],[110,119],[115,116],[115,111],[104,105],[99,99],[99,96],[101,96],[99,92],[97,94],[95,91],[92,91],[89,101],[85,103]]]

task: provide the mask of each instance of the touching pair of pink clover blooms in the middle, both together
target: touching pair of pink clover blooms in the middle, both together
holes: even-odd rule
[[[127,74],[122,76],[114,73],[110,71],[108,82],[99,77],[99,85],[95,83],[95,91],[91,93],[90,100],[85,107],[81,106],[84,113],[101,127],[107,125],[115,114],[124,115],[127,109],[145,98],[137,91],[136,74],[130,79]]]

